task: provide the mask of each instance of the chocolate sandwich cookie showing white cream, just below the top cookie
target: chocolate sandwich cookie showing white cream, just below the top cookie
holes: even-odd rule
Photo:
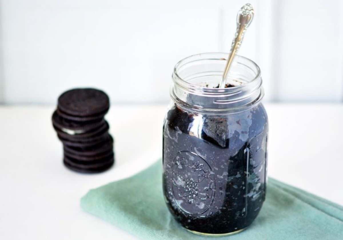
[[[96,121],[77,122],[61,117],[57,111],[54,111],[52,114],[52,125],[54,128],[72,135],[92,131],[104,125],[104,123],[105,120],[103,118]]]

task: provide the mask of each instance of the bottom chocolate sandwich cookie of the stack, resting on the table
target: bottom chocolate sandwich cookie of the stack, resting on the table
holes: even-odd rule
[[[81,173],[100,173],[103,171],[106,171],[108,168],[110,168],[114,163],[114,154],[110,155],[106,159],[103,159],[103,161],[98,161],[95,163],[90,164],[84,164],[84,163],[78,163],[77,161],[64,156],[63,163],[66,167],[68,167],[70,170],[81,172]]]

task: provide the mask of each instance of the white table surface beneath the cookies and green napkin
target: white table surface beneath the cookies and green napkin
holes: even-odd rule
[[[343,105],[266,104],[268,174],[343,205]],[[135,239],[80,208],[95,188],[162,155],[166,106],[112,106],[116,164],[85,175],[62,164],[54,106],[0,106],[0,239]]]

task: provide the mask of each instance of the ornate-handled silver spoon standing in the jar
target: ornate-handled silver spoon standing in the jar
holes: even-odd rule
[[[239,50],[240,45],[242,44],[245,31],[250,25],[253,17],[254,9],[252,8],[250,3],[247,3],[243,7],[241,7],[237,13],[237,29],[235,32],[235,37],[232,41],[230,54],[227,58],[223,78],[220,82],[219,88],[225,88],[226,78],[230,70],[230,66]]]

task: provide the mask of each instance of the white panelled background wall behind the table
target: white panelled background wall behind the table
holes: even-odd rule
[[[114,103],[169,99],[176,62],[229,51],[247,0],[1,0],[0,102],[56,103],[72,87]],[[251,0],[240,54],[257,62],[267,101],[341,102],[343,1]]]

